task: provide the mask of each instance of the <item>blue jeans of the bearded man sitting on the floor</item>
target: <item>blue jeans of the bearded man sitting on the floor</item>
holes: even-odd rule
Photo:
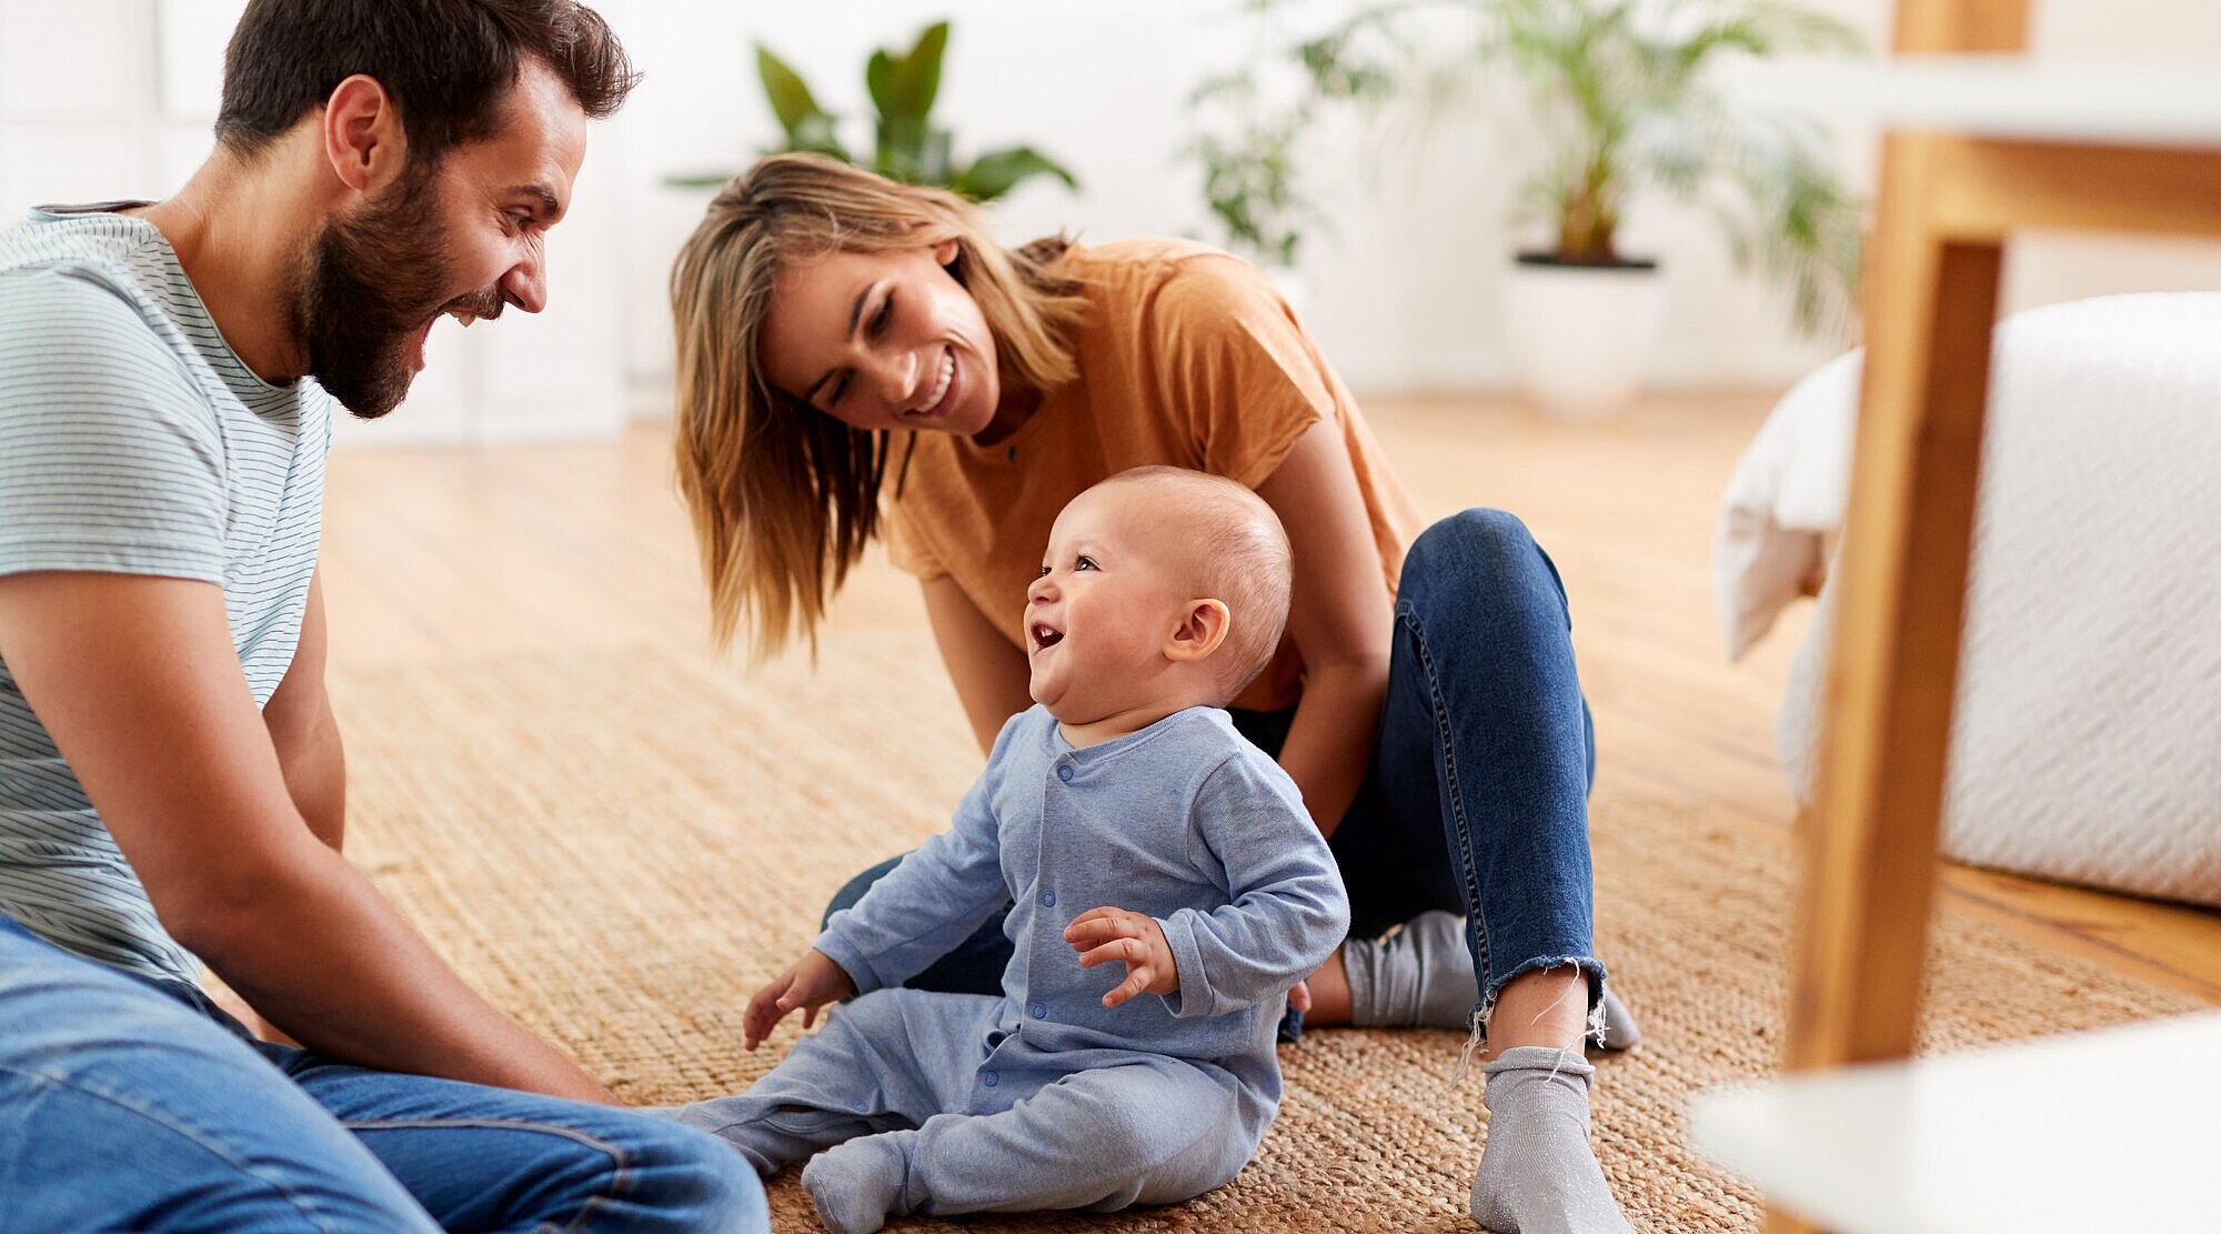
[[[0,917],[0,1227],[771,1227],[722,1141],[646,1114],[346,1068]]]

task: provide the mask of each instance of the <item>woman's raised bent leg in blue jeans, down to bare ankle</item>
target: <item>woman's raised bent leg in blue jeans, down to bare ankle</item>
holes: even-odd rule
[[[1413,544],[1395,617],[1375,759],[1390,826],[1430,823],[1448,841],[1490,1045],[1566,1045],[1604,985],[1597,757],[1566,590],[1519,519],[1466,510]]]

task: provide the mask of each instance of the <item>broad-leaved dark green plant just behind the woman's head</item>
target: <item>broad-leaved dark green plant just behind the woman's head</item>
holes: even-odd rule
[[[780,120],[786,142],[762,153],[813,151],[842,162],[871,166],[904,184],[937,184],[955,189],[975,202],[991,202],[1017,184],[1048,175],[1066,189],[1079,182],[1059,162],[1033,146],[988,151],[971,162],[953,158],[948,129],[933,124],[933,102],[942,89],[942,53],[948,49],[948,22],[926,27],[908,51],[877,49],[864,64],[864,87],[875,111],[875,142],[868,160],[857,158],[840,140],[840,118],[817,107],[811,87],[768,47],[755,47],[755,73],[764,98]],[[666,184],[684,189],[717,186],[731,171],[671,175]]]

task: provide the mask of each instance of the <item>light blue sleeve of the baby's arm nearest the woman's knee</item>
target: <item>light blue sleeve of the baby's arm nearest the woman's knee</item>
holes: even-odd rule
[[[1226,872],[1228,903],[1182,908],[1159,928],[1177,974],[1177,1016],[1228,1014],[1279,999],[1341,945],[1350,901],[1326,837],[1286,772],[1230,757],[1195,797],[1195,832]]]

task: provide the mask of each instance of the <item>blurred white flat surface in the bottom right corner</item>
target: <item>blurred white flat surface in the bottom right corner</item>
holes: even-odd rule
[[[2221,1012],[1704,1094],[1717,1165],[1837,1234],[2214,1232]]]

